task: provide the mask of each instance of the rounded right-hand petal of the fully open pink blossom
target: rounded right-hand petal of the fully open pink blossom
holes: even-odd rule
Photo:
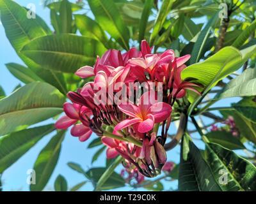
[[[167,103],[158,102],[150,107],[150,113],[154,115],[155,123],[163,122],[172,113],[172,106]]]

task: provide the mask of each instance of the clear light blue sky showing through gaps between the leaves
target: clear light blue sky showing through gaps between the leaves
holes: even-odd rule
[[[27,6],[29,3],[31,3],[31,0],[15,0],[15,2],[19,3],[22,6]],[[75,1],[72,1],[75,2]],[[40,0],[35,0],[33,3],[36,6],[36,14],[42,17],[45,22],[51,27],[50,24],[50,11],[47,8],[43,8],[42,5],[40,5]],[[12,74],[8,71],[6,66],[4,64],[8,62],[16,62],[19,64],[24,64],[16,54],[15,50],[12,48],[12,45],[6,38],[4,27],[3,25],[0,25],[0,39],[1,39],[1,49],[0,49],[0,85],[3,87],[4,91],[7,95],[9,95],[13,89],[18,85],[24,85],[22,82],[17,80],[15,77],[12,76]],[[225,101],[220,101],[216,103],[215,106],[227,106],[230,104],[230,102],[237,101],[236,98],[234,99],[228,99]],[[42,122],[40,124],[47,124],[49,122],[53,122],[53,120],[47,120],[46,122]],[[209,123],[211,120],[205,119],[205,123]],[[36,124],[35,126],[38,126]],[[193,126],[189,125],[188,129],[195,129]],[[175,133],[176,128],[174,124],[172,123],[172,126],[170,128],[170,134]],[[36,161],[36,157],[40,153],[40,150],[44,148],[44,146],[51,140],[51,136],[54,134],[50,134],[45,136],[40,142],[38,142],[31,150],[29,150],[24,156],[22,156],[15,164],[13,164],[10,168],[8,168],[3,173],[3,190],[4,191],[29,191],[29,185],[26,183],[28,175],[26,172],[29,169],[33,168],[33,165]],[[199,136],[197,134],[193,135],[197,138]],[[77,173],[74,170],[71,170],[67,163],[72,161],[78,164],[81,164],[81,166],[84,168],[84,170],[88,170],[92,167],[98,167],[98,166],[104,166],[106,162],[106,156],[105,154],[102,154],[99,159],[91,164],[91,159],[93,154],[99,149],[86,149],[88,146],[88,143],[90,143],[94,138],[96,138],[96,135],[92,135],[91,138],[86,142],[79,142],[77,138],[74,138],[70,135],[68,132],[65,136],[65,140],[62,143],[61,153],[60,153],[60,159],[58,161],[58,164],[51,176],[51,179],[49,180],[47,187],[45,187],[45,190],[52,190],[54,186],[54,180],[56,177],[58,177],[59,174],[63,175],[68,182],[68,186],[72,187],[76,185],[79,182],[83,182],[86,180],[83,175]],[[204,148],[204,145],[202,142],[195,140],[195,143],[198,147]],[[172,151],[168,152],[168,161],[174,161],[175,163],[179,163],[179,146],[175,147]],[[117,172],[119,173],[122,170],[122,166],[119,166],[117,168]],[[177,182],[164,182],[165,190],[170,189],[172,187],[173,189],[177,188]],[[92,184],[88,183],[84,185],[81,190],[83,191],[92,191],[93,187]],[[120,189],[115,189],[120,191],[130,191],[131,187],[123,187]],[[143,189],[139,189],[143,190]]]

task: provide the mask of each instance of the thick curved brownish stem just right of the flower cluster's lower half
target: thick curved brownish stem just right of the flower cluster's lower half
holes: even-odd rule
[[[181,113],[181,115],[180,115],[180,124],[179,124],[179,128],[178,128],[177,134],[173,137],[171,142],[166,143],[164,145],[164,149],[166,151],[173,149],[177,144],[179,144],[179,142],[180,142],[180,140],[182,138],[182,135],[186,131],[187,122],[188,122],[187,115],[185,115],[184,113]]]

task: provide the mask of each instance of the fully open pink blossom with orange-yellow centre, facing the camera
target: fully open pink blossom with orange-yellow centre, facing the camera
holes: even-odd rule
[[[163,102],[152,104],[149,93],[146,92],[141,96],[138,106],[132,104],[118,105],[118,108],[126,115],[129,115],[130,118],[117,124],[115,130],[134,125],[136,131],[147,133],[154,128],[155,123],[163,122],[170,116],[172,106]],[[152,95],[155,96],[155,94]]]

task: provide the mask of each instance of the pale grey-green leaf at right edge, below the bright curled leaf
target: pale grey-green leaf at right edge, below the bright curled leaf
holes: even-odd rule
[[[230,80],[225,87],[216,94],[214,100],[239,96],[256,95],[256,68],[247,68],[243,73]]]

